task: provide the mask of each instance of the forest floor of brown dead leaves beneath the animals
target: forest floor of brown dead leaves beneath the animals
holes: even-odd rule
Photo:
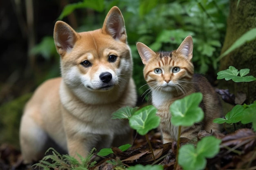
[[[222,140],[220,152],[212,159],[207,159],[208,170],[256,170],[256,134],[249,128],[241,128],[233,133],[227,134],[200,132],[198,140],[204,136],[214,135]],[[99,161],[90,170],[109,170],[114,169],[120,164],[109,163],[110,159],[121,160],[124,166],[134,166],[136,164],[161,164],[164,170],[173,170],[176,157],[177,144],[161,143],[161,135],[154,130],[148,133],[148,138],[153,147],[155,160],[152,157],[148,143],[144,136],[138,135],[135,138],[132,149],[122,152],[118,148],[112,148],[113,158],[106,158]],[[196,142],[186,138],[181,139],[181,145]],[[20,150],[15,149],[9,144],[0,145],[0,170],[32,170],[31,165],[22,163]],[[58,168],[56,168],[58,170]],[[182,170],[177,167],[177,170]]]

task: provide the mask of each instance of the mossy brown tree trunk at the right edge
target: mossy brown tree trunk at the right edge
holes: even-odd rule
[[[225,52],[241,35],[256,27],[256,1],[240,0],[237,7],[237,0],[230,0],[230,12],[227,19],[227,32],[221,53]],[[245,43],[235,51],[229,53],[220,60],[220,71],[234,66],[238,70],[249,68],[250,73],[256,77],[256,40]],[[227,88],[231,93],[236,94],[242,91],[247,94],[247,104],[256,100],[256,81],[235,83],[232,80],[220,80],[220,88]]]

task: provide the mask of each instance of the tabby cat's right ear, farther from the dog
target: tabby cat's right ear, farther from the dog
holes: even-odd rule
[[[182,53],[184,57],[191,60],[193,56],[193,39],[191,36],[187,36],[182,43],[180,44],[179,48],[176,50],[178,53]]]

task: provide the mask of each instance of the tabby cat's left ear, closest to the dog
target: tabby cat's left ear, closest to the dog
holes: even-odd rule
[[[141,42],[137,42],[136,46],[144,65],[148,63],[152,55],[156,55],[154,51]]]

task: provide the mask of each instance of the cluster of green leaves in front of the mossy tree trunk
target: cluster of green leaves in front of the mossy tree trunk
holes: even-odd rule
[[[224,79],[226,81],[232,79],[234,82],[252,82],[255,81],[256,78],[252,75],[247,75],[250,72],[249,68],[244,68],[238,71],[234,66],[229,66],[227,70],[223,70],[217,73],[217,79]],[[239,74],[239,76],[238,76]]]

